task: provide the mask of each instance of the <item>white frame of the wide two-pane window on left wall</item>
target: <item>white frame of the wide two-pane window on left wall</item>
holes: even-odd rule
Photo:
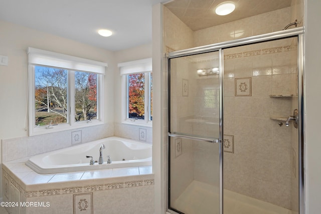
[[[63,59],[66,62],[70,62],[71,64],[82,63],[87,68],[80,69],[71,69],[64,67],[56,67],[52,65],[46,65],[46,63],[39,64],[37,61],[34,63],[32,60],[28,60],[28,88],[29,88],[29,136],[54,133],[59,131],[72,130],[77,128],[95,126],[104,124],[104,72],[97,72],[95,69],[90,69],[90,64],[94,66],[107,67],[106,63],[91,61],[87,59],[82,59],[78,57],[73,57],[69,55],[58,54],[54,52],[43,51],[39,49],[28,49],[28,54],[36,53],[43,56],[48,56],[57,59]],[[29,56],[30,57],[30,56]],[[90,62],[90,63],[89,63]],[[59,64],[59,63],[58,63]],[[36,127],[35,123],[35,115],[36,115],[36,107],[35,107],[35,66],[44,66],[51,68],[61,68],[67,70],[67,99],[68,99],[68,113],[67,113],[67,123],[58,124],[56,126],[51,126],[52,128],[48,129],[47,126]],[[102,69],[104,71],[105,68]],[[87,72],[87,73],[95,73],[97,74],[97,119],[88,120],[88,121],[75,121],[75,72]]]

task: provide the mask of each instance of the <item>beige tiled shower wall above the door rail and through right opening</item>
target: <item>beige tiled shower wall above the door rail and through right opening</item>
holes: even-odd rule
[[[302,1],[292,1],[290,8],[192,32],[192,38],[191,31],[187,26],[167,8],[164,8],[164,50],[168,53],[174,50],[275,32],[282,30],[287,24],[293,22],[293,19],[297,19],[300,22],[298,26],[302,26],[302,5]],[[297,178],[293,175],[293,170],[296,170],[297,174],[297,166],[292,165],[292,154],[293,151],[297,152],[297,148],[292,146],[295,145],[295,142],[291,141],[294,137],[289,137],[290,133],[295,131],[292,127],[285,127],[284,121],[283,125],[279,126],[280,121],[272,120],[270,116],[287,117],[291,115],[293,110],[291,104],[295,103],[297,98],[269,97],[269,94],[272,93],[296,93],[295,84],[287,84],[289,82],[295,83],[296,70],[285,71],[284,68],[278,68],[283,60],[288,60],[289,52],[296,51],[296,48],[292,50],[291,48],[293,48],[293,44],[292,41],[289,41],[285,44],[282,42],[269,43],[263,47],[252,46],[248,50],[244,47],[234,49],[233,53],[239,54],[238,56],[234,56],[232,52],[225,52],[224,125],[225,134],[234,137],[235,150],[234,153],[224,153],[226,158],[224,167],[226,168],[225,175],[227,175],[225,177],[226,188],[234,188],[233,191],[296,210],[297,186],[293,182],[296,182]],[[260,54],[254,53],[255,56],[250,56],[253,54],[252,51],[257,50],[260,50]],[[228,54],[230,55],[227,56]],[[270,68],[270,73],[268,73],[268,69],[264,69],[267,67]],[[167,76],[166,72],[166,67],[164,67],[164,78]],[[235,96],[235,78],[241,77],[251,77],[253,87],[251,96]],[[268,87],[268,90],[263,86]],[[164,89],[164,103],[166,103],[166,81],[164,81]],[[167,112],[166,106],[164,106],[164,110]],[[164,121],[166,120],[167,115],[164,114]],[[253,131],[253,128],[258,128],[258,131]],[[165,126],[165,135],[167,134],[166,130],[168,129]],[[164,145],[164,149],[166,149],[166,144]],[[257,163],[253,161],[257,161]],[[242,167],[238,168],[240,165]],[[251,173],[254,173],[254,176],[250,177]],[[275,177],[272,177],[273,175]],[[254,192],[259,195],[254,195]],[[289,195],[291,192],[292,196]]]

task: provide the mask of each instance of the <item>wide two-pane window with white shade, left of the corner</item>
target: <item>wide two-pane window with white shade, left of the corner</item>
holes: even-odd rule
[[[28,49],[29,134],[103,124],[107,64]]]

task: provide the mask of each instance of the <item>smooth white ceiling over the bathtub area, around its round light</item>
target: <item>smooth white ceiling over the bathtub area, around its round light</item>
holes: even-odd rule
[[[163,2],[168,0],[0,0],[0,20],[119,51],[151,42],[152,5]],[[99,36],[101,28],[113,35]]]

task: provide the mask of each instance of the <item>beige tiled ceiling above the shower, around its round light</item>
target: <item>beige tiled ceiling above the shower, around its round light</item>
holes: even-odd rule
[[[174,0],[165,4],[193,31],[221,25],[291,6],[291,0],[232,0],[235,11],[227,16],[215,14],[215,8],[230,0]]]

